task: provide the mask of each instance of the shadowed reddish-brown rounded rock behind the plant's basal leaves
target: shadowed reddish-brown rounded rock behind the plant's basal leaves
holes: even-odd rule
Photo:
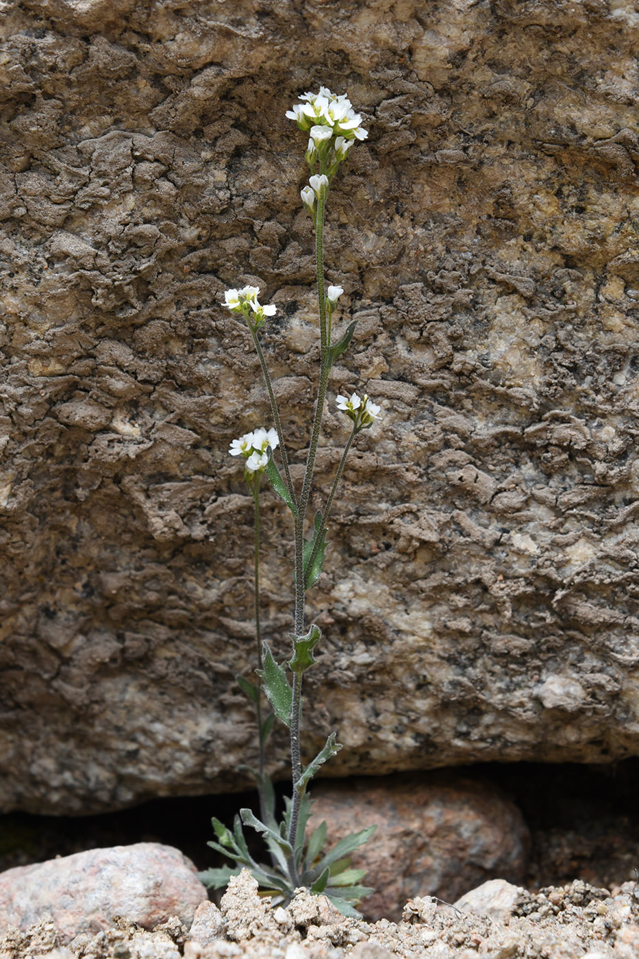
[[[521,812],[497,789],[431,773],[395,782],[374,779],[317,784],[309,830],[322,819],[337,842],[375,826],[353,865],[367,869],[375,892],[362,902],[369,920],[401,918],[414,896],[454,902],[485,877],[523,882],[530,836]]]

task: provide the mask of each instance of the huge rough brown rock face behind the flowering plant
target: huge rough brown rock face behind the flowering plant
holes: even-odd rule
[[[385,412],[312,596],[304,749],[337,727],[336,775],[636,755],[635,5],[25,0],[1,30],[0,808],[223,790],[254,760],[226,450],[268,407],[218,303],[277,304],[302,462],[313,246],[284,112],[320,82],[370,130],[331,194],[359,326],[330,401],[366,383]],[[331,414],[320,483],[343,439]],[[264,520],[283,655],[268,493]]]

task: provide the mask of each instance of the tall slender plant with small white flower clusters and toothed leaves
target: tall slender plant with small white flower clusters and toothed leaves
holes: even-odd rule
[[[337,408],[351,420],[351,433],[343,448],[333,484],[322,511],[316,513],[312,529],[305,537],[305,521],[308,512],[315,461],[318,451],[321,418],[326,398],[331,367],[347,349],[355,332],[356,321],[351,322],[342,336],[333,339],[332,319],[338,300],[343,295],[341,286],[328,286],[324,289],[322,234],[324,211],[331,180],[340,164],[349,154],[356,140],[364,140],[367,130],[363,129],[362,118],[355,113],[348,98],[335,95],[321,86],[319,93],[305,93],[302,103],[287,111],[287,117],[296,121],[299,129],[308,132],[309,140],[305,154],[310,168],[308,185],[301,190],[301,200],[310,213],[316,234],[316,275],[319,305],[319,382],[318,397],[311,428],[311,439],[306,457],[306,467],[301,488],[291,479],[289,456],[282,433],[279,409],[272,388],[271,375],[266,363],[258,336],[260,327],[269,316],[276,312],[274,304],[262,306],[258,300],[257,287],[244,287],[242,290],[227,290],[224,306],[232,314],[246,321],[262,374],[269,393],[272,422],[270,429],[260,427],[251,433],[245,433],[230,444],[231,456],[243,456],[245,460],[244,477],[249,485],[254,503],[254,591],[255,591],[255,636],[257,640],[257,682],[251,683],[244,677],[238,677],[240,688],[249,696],[255,707],[258,730],[259,767],[254,771],[257,781],[260,818],[250,810],[241,809],[236,817],[233,830],[227,830],[218,820],[213,819],[216,840],[209,843],[218,852],[225,854],[237,865],[234,869],[210,869],[201,874],[208,885],[220,887],[228,878],[236,875],[243,866],[249,868],[253,877],[265,889],[278,897],[278,901],[289,901],[296,888],[305,887],[311,893],[325,895],[345,915],[357,916],[354,907],[366,896],[370,889],[360,885],[364,870],[350,868],[349,854],[367,841],[374,827],[361,832],[351,833],[338,842],[329,852],[324,852],[326,824],[321,823],[310,835],[306,834],[306,825],[311,811],[307,787],[319,767],[342,748],[331,733],[323,748],[314,760],[302,765],[300,755],[299,731],[302,705],[302,678],[307,669],[316,662],[314,650],[321,639],[316,623],[306,628],[305,594],[319,579],[326,552],[326,523],[335,494],[342,479],[346,456],[356,436],[367,430],[380,416],[380,407],[372,402],[365,393],[360,397],[352,393],[350,398],[337,397]],[[273,451],[278,449],[281,458],[281,472],[273,459]],[[262,476],[266,474],[272,489],[288,506],[293,520],[294,533],[294,582],[295,614],[294,629],[290,634],[293,646],[292,657],[285,664],[278,664],[273,658],[268,643],[262,643],[260,628],[259,596],[259,533],[260,513],[259,495]],[[287,674],[287,669],[290,672]],[[264,718],[264,697],[271,711]],[[275,719],[281,720],[290,730],[291,767],[293,788],[291,798],[286,800],[286,808],[280,822],[275,816],[275,799],[271,780],[265,772],[265,746]],[[249,853],[244,836],[244,826],[261,833],[269,851],[270,865],[257,863]]]

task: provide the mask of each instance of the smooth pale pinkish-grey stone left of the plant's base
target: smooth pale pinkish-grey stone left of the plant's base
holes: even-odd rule
[[[95,935],[117,917],[153,929],[190,925],[208,893],[186,856],[159,843],[114,846],[0,873],[0,927],[51,922],[59,941]]]

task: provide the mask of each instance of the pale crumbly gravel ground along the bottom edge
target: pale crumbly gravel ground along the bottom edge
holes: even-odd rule
[[[196,939],[178,920],[153,932],[121,921],[64,947],[51,924],[39,924],[0,937],[0,959],[636,959],[636,892],[633,882],[613,895],[579,882],[536,896],[523,892],[505,922],[416,897],[402,922],[369,924],[343,919],[308,893],[272,910],[244,873],[229,883],[220,910],[210,911],[210,936],[202,924]]]

